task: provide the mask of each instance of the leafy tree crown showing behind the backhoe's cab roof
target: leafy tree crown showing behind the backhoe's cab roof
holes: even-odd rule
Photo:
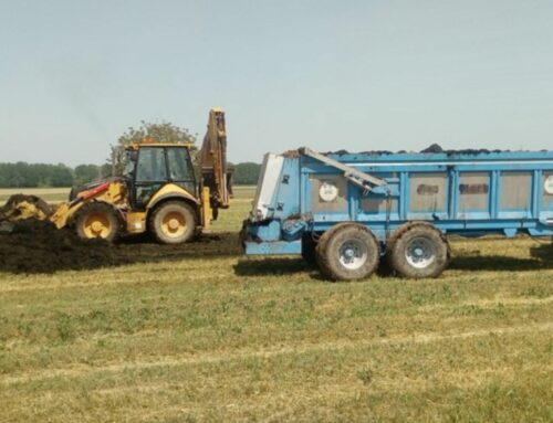
[[[112,157],[108,162],[114,165],[116,173],[123,170],[124,148],[133,142],[145,141],[195,144],[196,136],[187,128],[180,128],[169,121],[152,124],[140,120],[138,128],[128,127],[127,131],[117,139],[117,145],[112,146]]]

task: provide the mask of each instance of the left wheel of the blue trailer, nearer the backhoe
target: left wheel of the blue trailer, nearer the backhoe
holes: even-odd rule
[[[321,272],[333,281],[357,281],[378,267],[380,248],[365,226],[346,223],[325,232],[316,247]]]

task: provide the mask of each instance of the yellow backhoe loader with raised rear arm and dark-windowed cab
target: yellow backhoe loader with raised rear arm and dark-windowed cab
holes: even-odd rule
[[[219,209],[229,207],[231,173],[227,167],[225,113],[212,108],[198,151],[195,175],[191,144],[147,139],[125,148],[121,177],[72,191],[70,200],[51,211],[29,195],[14,195],[0,210],[0,220],[50,220],[70,226],[82,239],[113,241],[123,234],[149,232],[160,243],[177,244],[208,232]]]

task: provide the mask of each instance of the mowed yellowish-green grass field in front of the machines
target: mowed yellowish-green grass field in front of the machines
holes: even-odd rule
[[[240,255],[0,274],[0,421],[553,421],[553,250],[452,248],[424,281]]]

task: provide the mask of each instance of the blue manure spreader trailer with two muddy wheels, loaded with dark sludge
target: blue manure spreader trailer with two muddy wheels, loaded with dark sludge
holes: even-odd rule
[[[241,240],[247,254],[301,254],[334,281],[382,260],[437,277],[447,235],[553,235],[553,151],[268,154]]]

